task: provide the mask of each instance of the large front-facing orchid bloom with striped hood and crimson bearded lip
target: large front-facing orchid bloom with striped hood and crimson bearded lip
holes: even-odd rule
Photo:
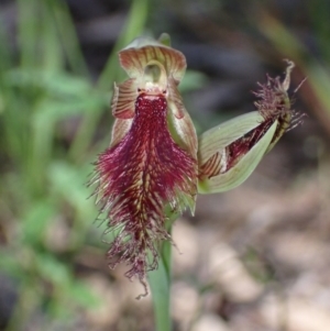
[[[136,276],[146,295],[146,272],[157,266],[160,243],[170,240],[166,220],[186,207],[194,212],[197,137],[176,89],[184,56],[154,43],[129,47],[120,58],[131,78],[116,86],[117,120],[110,147],[96,163],[96,194],[109,228],[119,230],[110,266],[125,262],[125,275]]]

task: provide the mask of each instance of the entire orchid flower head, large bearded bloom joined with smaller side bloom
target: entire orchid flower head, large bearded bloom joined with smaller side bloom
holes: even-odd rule
[[[114,85],[116,119],[110,146],[96,162],[100,212],[117,236],[109,265],[127,263],[147,294],[146,272],[155,269],[163,241],[172,241],[165,223],[189,208],[197,192],[229,190],[242,184],[262,157],[299,120],[290,109],[286,77],[268,78],[255,95],[256,111],[222,123],[199,139],[178,85],[186,70],[183,53],[158,41],[136,38],[119,52],[129,75]]]

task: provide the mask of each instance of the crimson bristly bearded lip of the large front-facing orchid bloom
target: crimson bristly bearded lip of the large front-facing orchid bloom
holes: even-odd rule
[[[120,255],[110,266],[127,262],[131,268],[125,275],[138,276],[144,287],[146,271],[157,266],[160,241],[170,239],[164,207],[185,208],[185,197],[196,195],[197,161],[172,139],[166,114],[164,96],[140,95],[129,132],[96,164],[108,224],[123,227],[108,252],[109,257]]]

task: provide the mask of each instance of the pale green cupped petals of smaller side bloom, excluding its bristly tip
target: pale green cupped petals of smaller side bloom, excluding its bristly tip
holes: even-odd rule
[[[266,153],[277,124],[277,121],[261,123],[260,113],[252,112],[202,134],[198,192],[223,192],[246,180]]]

